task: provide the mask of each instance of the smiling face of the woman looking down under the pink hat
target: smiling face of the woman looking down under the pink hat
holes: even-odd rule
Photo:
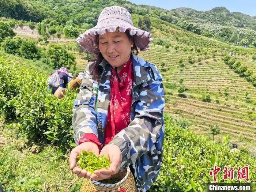
[[[112,67],[120,67],[130,59],[133,42],[125,33],[106,32],[99,35],[99,50]]]

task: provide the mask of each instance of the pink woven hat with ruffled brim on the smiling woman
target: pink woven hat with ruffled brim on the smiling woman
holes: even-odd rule
[[[147,50],[152,41],[152,35],[147,31],[134,27],[131,14],[127,9],[119,6],[104,8],[99,15],[97,25],[79,35],[76,41],[85,50],[97,54],[99,52],[97,34],[103,35],[106,34],[106,31],[115,32],[117,29],[120,32],[129,30],[130,35],[135,35],[135,45],[142,51]]]

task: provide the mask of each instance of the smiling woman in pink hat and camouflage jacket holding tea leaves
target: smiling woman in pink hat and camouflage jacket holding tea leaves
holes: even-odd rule
[[[74,102],[70,169],[79,177],[102,180],[131,167],[138,191],[147,191],[162,164],[164,120],[162,76],[154,64],[136,56],[151,34],[133,27],[122,7],[103,9],[98,23],[78,42],[97,55],[88,63]],[[136,51],[134,54],[133,51]],[[106,155],[109,169],[90,174],[76,166],[81,150]]]

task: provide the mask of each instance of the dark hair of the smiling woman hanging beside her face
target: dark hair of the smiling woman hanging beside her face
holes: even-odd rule
[[[137,48],[137,46],[135,45],[134,42],[134,35],[130,35],[129,30],[125,31],[125,34],[127,35],[128,39],[130,42],[133,42],[133,46],[131,48],[133,54],[138,55],[139,54],[139,50]],[[97,44],[99,44],[99,35],[97,35]],[[134,53],[135,52],[135,53]],[[92,71],[91,71],[91,75],[93,75],[93,79],[99,81],[100,75],[101,75],[101,68],[99,68],[99,64],[101,63],[101,61],[104,59],[104,57],[102,56],[101,52],[98,50],[98,53],[95,54],[94,59],[96,59],[96,61],[94,62],[93,66],[92,66]]]

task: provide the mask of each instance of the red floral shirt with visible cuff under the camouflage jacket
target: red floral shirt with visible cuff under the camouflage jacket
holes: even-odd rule
[[[130,123],[132,105],[133,69],[132,60],[129,59],[116,74],[116,69],[112,68],[110,77],[110,103],[106,124],[104,145],[112,141],[113,137],[122,129],[128,127]],[[93,133],[84,134],[78,144],[91,141],[98,144],[101,149],[102,144]]]

